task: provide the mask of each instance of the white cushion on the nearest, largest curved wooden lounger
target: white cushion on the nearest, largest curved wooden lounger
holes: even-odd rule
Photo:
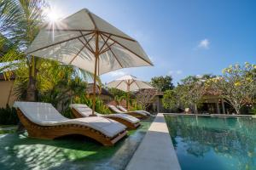
[[[31,121],[41,126],[55,126],[62,124],[79,124],[91,127],[112,138],[125,130],[119,122],[104,117],[86,117],[68,119],[62,116],[53,105],[39,102],[15,102],[14,105]]]

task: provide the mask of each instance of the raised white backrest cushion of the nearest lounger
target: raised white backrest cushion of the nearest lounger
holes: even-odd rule
[[[68,120],[49,103],[16,101],[14,107],[19,108],[31,122],[40,125],[44,125],[45,122],[49,123]]]

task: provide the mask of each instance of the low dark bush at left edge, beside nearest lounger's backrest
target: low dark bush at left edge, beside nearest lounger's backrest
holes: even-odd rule
[[[14,107],[0,108],[0,124],[2,125],[14,125],[19,122],[17,112]]]

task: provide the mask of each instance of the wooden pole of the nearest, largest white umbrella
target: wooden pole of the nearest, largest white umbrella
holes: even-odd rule
[[[98,59],[99,59],[99,33],[96,31],[96,52],[95,52],[95,67],[94,67],[94,82],[93,82],[92,116],[95,116],[96,74],[97,74],[97,62],[98,62]]]

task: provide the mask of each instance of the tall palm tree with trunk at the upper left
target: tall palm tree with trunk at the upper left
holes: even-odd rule
[[[36,100],[39,59],[24,52],[38,34],[47,7],[44,0],[0,0],[0,62],[9,62],[1,70],[26,77],[28,101]]]

